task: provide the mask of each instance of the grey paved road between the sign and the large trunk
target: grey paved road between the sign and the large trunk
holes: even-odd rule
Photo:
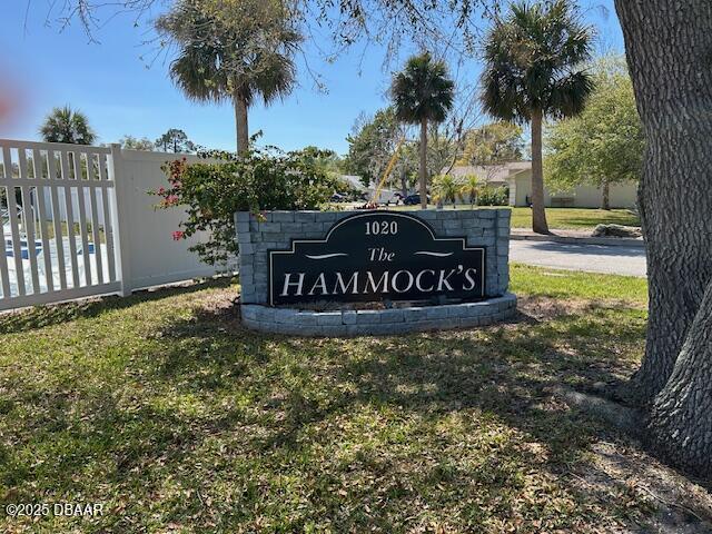
[[[556,269],[645,276],[645,249],[552,241],[511,241],[510,259]]]

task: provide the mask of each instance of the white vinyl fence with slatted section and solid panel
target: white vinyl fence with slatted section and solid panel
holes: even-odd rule
[[[0,139],[0,310],[214,275],[148,194],[175,158]]]

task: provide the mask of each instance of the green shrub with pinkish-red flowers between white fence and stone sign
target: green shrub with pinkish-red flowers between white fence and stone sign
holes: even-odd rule
[[[253,150],[237,159],[228,152],[207,151],[200,157],[217,162],[188,164],[186,158],[166,164],[168,187],[151,191],[161,197],[159,208],[180,206],[186,219],[174,239],[207,231],[209,240],[189,249],[215,265],[238,253],[235,212],[273,209],[320,209],[335,190],[335,179],[314,161],[314,154]]]

